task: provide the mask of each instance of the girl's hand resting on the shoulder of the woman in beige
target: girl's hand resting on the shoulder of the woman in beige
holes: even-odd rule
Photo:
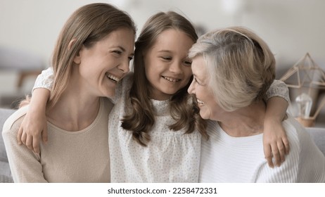
[[[48,140],[46,115],[28,111],[18,130],[18,144],[25,144],[34,153],[39,153],[41,135],[42,141],[46,143]]]

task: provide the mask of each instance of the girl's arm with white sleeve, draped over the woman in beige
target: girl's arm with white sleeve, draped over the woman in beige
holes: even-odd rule
[[[27,148],[39,153],[39,143],[42,134],[42,141],[47,141],[46,124],[46,103],[50,96],[51,85],[53,82],[53,70],[44,70],[37,77],[33,88],[33,95],[30,101],[29,110],[20,125],[17,135],[18,144],[25,144]]]

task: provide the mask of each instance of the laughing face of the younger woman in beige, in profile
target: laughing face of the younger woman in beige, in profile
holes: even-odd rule
[[[114,96],[116,84],[129,72],[133,56],[134,32],[127,28],[111,32],[90,48],[83,46],[75,58],[82,87],[96,96]]]

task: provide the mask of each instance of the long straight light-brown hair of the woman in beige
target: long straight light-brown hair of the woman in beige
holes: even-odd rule
[[[110,32],[127,27],[136,34],[132,18],[110,4],[87,4],[77,9],[63,26],[53,51],[53,88],[49,105],[53,106],[68,85],[73,59],[82,46],[91,47]],[[71,47],[69,43],[74,40]]]

